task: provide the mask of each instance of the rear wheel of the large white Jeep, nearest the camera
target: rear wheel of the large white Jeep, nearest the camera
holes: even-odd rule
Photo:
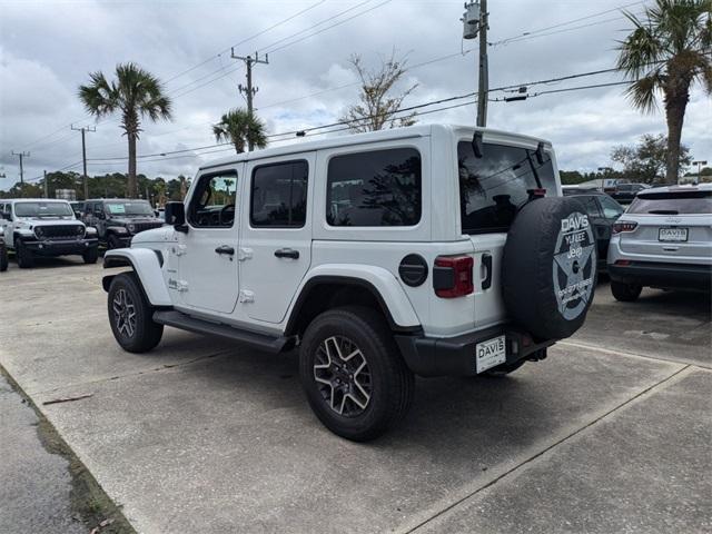
[[[307,328],[299,375],[312,409],[334,434],[378,437],[405,416],[414,376],[380,315],[349,306],[323,313]]]

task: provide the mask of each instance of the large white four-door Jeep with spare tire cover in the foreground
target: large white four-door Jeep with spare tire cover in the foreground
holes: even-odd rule
[[[595,286],[584,209],[546,141],[415,126],[204,166],[170,225],[110,250],[118,343],[164,326],[299,348],[317,417],[365,441],[408,409],[414,375],[503,375],[583,324]]]

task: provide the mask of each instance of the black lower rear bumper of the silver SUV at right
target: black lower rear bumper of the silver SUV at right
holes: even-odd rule
[[[710,290],[712,265],[631,261],[609,265],[609,276],[623,284]]]

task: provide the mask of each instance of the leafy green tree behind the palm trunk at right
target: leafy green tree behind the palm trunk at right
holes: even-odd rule
[[[623,177],[635,182],[653,184],[666,181],[665,170],[670,160],[670,144],[668,138],[657,136],[642,136],[637,145],[619,145],[611,150],[611,159],[623,167]],[[678,149],[678,167],[690,165],[690,149],[680,145]],[[675,178],[675,184],[678,178]]]

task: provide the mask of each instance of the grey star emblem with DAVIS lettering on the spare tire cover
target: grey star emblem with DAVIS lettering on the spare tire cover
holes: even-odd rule
[[[562,219],[552,267],[558,312],[567,320],[578,317],[591,299],[596,273],[595,247],[586,215],[574,211]]]

